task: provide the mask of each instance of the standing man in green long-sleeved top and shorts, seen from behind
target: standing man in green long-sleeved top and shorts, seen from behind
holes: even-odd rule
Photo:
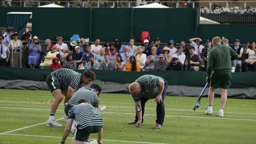
[[[206,82],[211,80],[208,92],[208,110],[205,114],[212,114],[212,103],[215,89],[221,85],[221,107],[218,116],[223,117],[223,109],[227,101],[227,89],[231,85],[231,60],[237,59],[237,53],[228,45],[221,45],[219,37],[212,39],[213,47],[207,59]],[[212,73],[212,70],[214,71]]]

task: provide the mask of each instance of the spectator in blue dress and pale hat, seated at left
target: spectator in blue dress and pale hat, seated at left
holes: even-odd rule
[[[29,53],[28,53],[28,64],[30,68],[35,68],[40,63],[41,58],[41,45],[38,42],[38,37],[34,36],[32,42],[29,46]]]

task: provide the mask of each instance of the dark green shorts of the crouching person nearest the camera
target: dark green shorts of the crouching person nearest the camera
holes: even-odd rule
[[[76,140],[77,141],[86,141],[91,133],[97,133],[101,130],[103,125],[88,126],[84,129],[77,129]]]

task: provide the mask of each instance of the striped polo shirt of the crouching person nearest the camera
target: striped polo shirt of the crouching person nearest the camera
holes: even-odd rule
[[[103,120],[95,108],[86,103],[73,106],[68,112],[68,118],[74,118],[78,129],[88,126],[103,125]]]

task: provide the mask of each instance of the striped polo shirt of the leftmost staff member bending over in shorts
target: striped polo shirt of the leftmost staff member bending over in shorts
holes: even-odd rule
[[[68,89],[71,86],[75,89],[77,86],[84,87],[82,82],[82,74],[75,72],[71,69],[57,69],[50,74],[60,85],[61,90]]]

